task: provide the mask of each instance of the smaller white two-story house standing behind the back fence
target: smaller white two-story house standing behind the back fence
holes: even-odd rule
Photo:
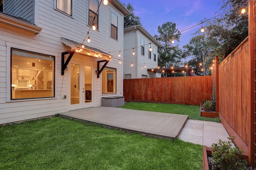
[[[124,79],[156,78],[161,74],[147,69],[158,68],[160,43],[141,25],[124,27]],[[150,47],[152,51],[150,51]],[[126,50],[130,49],[130,50]],[[132,54],[134,51],[134,55]]]

